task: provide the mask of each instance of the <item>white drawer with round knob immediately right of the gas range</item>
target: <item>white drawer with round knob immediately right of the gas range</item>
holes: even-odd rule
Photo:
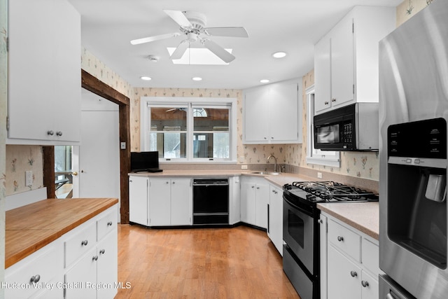
[[[328,241],[354,260],[361,261],[361,236],[335,221],[328,222]]]

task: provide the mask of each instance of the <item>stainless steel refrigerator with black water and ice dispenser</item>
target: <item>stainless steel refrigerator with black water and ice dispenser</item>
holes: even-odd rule
[[[379,43],[379,298],[448,298],[448,0]]]

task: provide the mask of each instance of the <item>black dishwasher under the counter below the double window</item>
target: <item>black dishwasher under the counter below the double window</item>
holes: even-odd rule
[[[229,224],[229,180],[193,179],[193,225]]]

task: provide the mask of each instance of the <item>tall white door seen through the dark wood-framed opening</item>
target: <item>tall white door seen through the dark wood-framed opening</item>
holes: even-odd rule
[[[73,146],[72,156],[73,172],[78,172],[73,197],[120,199],[118,104],[85,89],[81,95],[81,144]]]

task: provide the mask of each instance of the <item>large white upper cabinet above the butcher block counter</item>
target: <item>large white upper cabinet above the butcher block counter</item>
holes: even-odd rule
[[[7,144],[80,141],[80,15],[66,0],[9,1]]]

